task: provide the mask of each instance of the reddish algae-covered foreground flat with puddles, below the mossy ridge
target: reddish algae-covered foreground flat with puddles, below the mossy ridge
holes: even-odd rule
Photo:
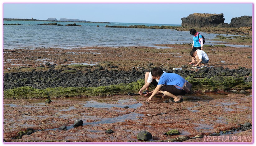
[[[191,139],[184,142],[206,142],[196,135],[210,136],[252,123],[252,96],[233,93],[188,94],[181,103],[169,98],[143,96],[109,96],[51,99],[4,99],[4,139],[7,142],[140,142],[137,134],[148,131],[151,142],[170,140],[179,136]],[[126,108],[125,108],[126,107]],[[80,119],[83,125],[73,127]],[[67,126],[66,131],[58,127]],[[105,133],[111,129],[111,134]],[[175,129],[179,135],[164,135]],[[15,139],[19,131],[34,133]],[[229,141],[238,136],[252,136],[252,130],[231,131]],[[236,137],[235,137],[236,136]],[[207,137],[208,138],[208,137]],[[213,138],[209,137],[209,140]],[[211,142],[224,142],[216,141]],[[240,142],[250,142],[249,138]]]

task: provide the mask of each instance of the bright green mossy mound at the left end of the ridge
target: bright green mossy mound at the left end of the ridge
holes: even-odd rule
[[[17,98],[17,99],[27,99],[27,98],[48,98],[49,95],[46,91],[35,89],[32,87],[20,87],[4,91],[3,98]]]

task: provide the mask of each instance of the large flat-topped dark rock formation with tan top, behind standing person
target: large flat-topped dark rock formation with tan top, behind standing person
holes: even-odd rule
[[[209,27],[224,23],[223,14],[194,13],[181,18],[183,27]]]

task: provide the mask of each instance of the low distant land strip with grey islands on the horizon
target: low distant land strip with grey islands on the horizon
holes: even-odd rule
[[[110,23],[110,22],[93,22],[79,19],[66,19],[61,18],[60,20],[56,20],[56,18],[48,18],[47,20],[39,20],[39,19],[17,19],[17,18],[4,18],[4,21],[50,21],[50,22],[81,22],[81,23]]]

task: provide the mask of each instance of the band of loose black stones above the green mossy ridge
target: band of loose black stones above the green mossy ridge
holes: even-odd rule
[[[184,78],[207,78],[215,76],[233,76],[242,77],[244,82],[252,82],[252,69],[240,67],[239,69],[229,69],[223,67],[210,68],[203,67],[197,71],[187,69],[187,66],[180,70],[166,70],[169,73],[176,73]],[[54,68],[54,67],[53,67]],[[121,83],[132,83],[139,79],[144,79],[147,70],[144,67],[134,68],[130,71],[118,71],[103,69],[76,70],[69,67],[65,69],[52,69],[47,71],[31,71],[31,72],[11,72],[4,73],[4,90],[17,87],[29,86],[36,89],[56,88],[56,87],[99,87],[109,86]]]

